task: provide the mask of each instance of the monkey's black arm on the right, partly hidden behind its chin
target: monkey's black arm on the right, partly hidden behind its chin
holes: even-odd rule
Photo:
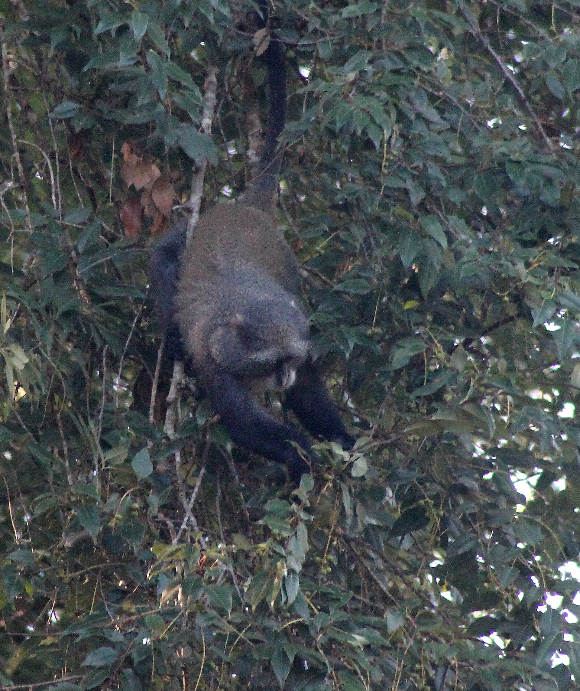
[[[296,370],[296,383],[288,390],[285,404],[313,437],[337,442],[345,451],[354,446],[355,439],[347,432],[311,360]]]

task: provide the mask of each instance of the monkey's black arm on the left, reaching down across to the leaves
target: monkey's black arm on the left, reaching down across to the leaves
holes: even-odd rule
[[[298,484],[302,473],[310,473],[310,468],[289,442],[311,455],[306,437],[272,417],[251,390],[229,372],[218,366],[208,370],[203,372],[202,384],[233,441],[264,458],[285,463],[290,479]]]

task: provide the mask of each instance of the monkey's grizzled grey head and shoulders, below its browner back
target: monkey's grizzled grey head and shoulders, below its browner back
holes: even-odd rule
[[[193,247],[199,249],[195,241]],[[308,323],[296,296],[244,261],[229,267],[206,261],[205,280],[191,281],[192,274],[201,278],[201,258],[200,252],[184,252],[175,301],[195,369],[213,361],[256,392],[291,386],[309,348]]]

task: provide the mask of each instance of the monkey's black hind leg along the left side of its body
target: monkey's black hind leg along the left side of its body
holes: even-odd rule
[[[155,312],[166,334],[165,352],[174,360],[183,360],[185,351],[180,328],[175,321],[175,293],[180,269],[180,258],[186,244],[186,224],[178,223],[166,233],[151,251],[149,276],[151,292],[155,298]]]

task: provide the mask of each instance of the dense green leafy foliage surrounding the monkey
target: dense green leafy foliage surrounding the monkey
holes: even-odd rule
[[[280,224],[360,438],[292,492],[191,386],[168,439],[165,372],[150,421],[122,176],[242,191],[253,3],[1,0],[0,685],[577,688],[577,5],[273,4]]]

